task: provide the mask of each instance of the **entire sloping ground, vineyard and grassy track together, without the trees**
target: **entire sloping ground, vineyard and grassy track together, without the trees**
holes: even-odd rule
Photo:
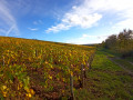
[[[0,37],[1,100],[132,100],[132,74],[93,46]]]

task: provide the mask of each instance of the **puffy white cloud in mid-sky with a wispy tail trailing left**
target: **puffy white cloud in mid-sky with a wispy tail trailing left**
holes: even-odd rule
[[[100,13],[91,13],[88,7],[82,3],[80,7],[73,6],[72,10],[66,12],[61,19],[61,23],[49,28],[45,32],[58,32],[71,27],[91,28],[102,18]],[[60,27],[61,26],[61,27]]]

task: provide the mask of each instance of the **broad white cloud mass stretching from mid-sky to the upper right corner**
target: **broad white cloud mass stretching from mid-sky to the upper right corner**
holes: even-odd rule
[[[109,14],[116,20],[112,26],[132,28],[132,0],[83,0],[80,6],[73,6],[69,12],[65,12],[59,24],[48,28],[45,32],[58,32],[71,27],[91,28]],[[60,24],[63,27],[60,27]]]

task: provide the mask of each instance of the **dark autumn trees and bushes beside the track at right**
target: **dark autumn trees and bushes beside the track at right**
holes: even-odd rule
[[[123,58],[133,57],[133,30],[124,29],[119,34],[108,37],[102,47],[120,53]]]

